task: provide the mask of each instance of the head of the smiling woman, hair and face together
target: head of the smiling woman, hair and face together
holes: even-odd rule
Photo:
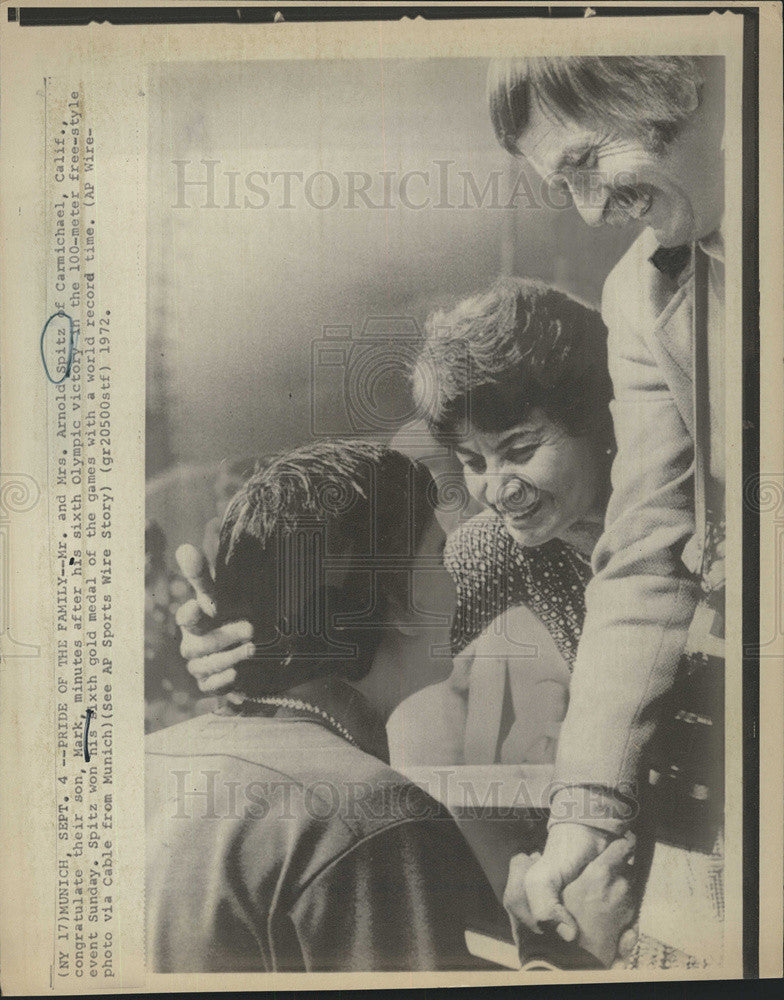
[[[427,329],[414,396],[436,439],[454,447],[471,495],[521,545],[600,524],[613,436],[598,313],[505,278]]]

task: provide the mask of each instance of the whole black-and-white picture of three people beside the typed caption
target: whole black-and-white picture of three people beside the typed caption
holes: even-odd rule
[[[148,960],[720,966],[724,59],[156,70]]]

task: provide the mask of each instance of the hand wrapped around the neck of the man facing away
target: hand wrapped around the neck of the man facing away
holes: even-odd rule
[[[177,549],[177,562],[196,596],[177,611],[182,629],[180,653],[204,694],[219,694],[237,677],[237,664],[253,656],[253,626],[250,622],[218,625],[214,586],[204,553],[193,545]]]

